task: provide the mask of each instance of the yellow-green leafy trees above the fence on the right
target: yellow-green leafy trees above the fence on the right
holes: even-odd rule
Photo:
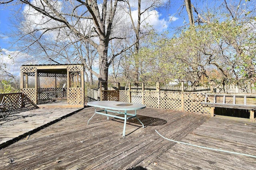
[[[240,7],[238,7],[240,8]],[[255,16],[223,18],[184,29],[171,39],[158,37],[140,50],[141,79],[165,81],[214,80],[218,84],[256,81]],[[143,62],[142,62],[143,61]]]

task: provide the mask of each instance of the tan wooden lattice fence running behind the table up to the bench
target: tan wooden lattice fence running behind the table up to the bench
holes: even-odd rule
[[[131,83],[128,83],[128,87],[124,90],[118,90],[117,87],[112,90],[101,89],[100,100],[141,103],[150,108],[210,113],[210,107],[200,104],[205,101],[202,92],[165,91],[161,90],[159,83],[155,89],[151,90],[145,88],[144,83],[142,83],[141,89],[132,88]]]

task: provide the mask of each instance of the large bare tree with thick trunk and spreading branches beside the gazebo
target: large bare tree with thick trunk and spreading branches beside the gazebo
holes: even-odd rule
[[[7,0],[2,1],[1,4],[12,2],[14,0]],[[27,39],[26,47],[22,44],[24,50],[31,50],[32,46],[37,43],[43,47],[43,51],[46,51],[48,59],[54,63],[60,63],[62,60],[54,56],[65,58],[67,47],[72,49],[76,43],[80,43],[80,45],[87,43],[97,51],[99,68],[99,71],[95,72],[88,66],[88,70],[102,81],[108,81],[108,68],[113,59],[134,45],[131,44],[109,56],[110,41],[126,38],[113,32],[115,22],[118,22],[115,18],[121,8],[118,4],[123,3],[120,0],[102,0],[100,2],[96,0],[62,2],[57,0],[17,0],[16,2],[25,4],[24,20],[20,22],[23,25],[20,27],[18,39]],[[49,38],[54,44],[50,46],[52,49],[42,44],[42,39]],[[64,42],[66,45],[63,45]],[[58,52],[49,55],[47,50]],[[74,51],[68,53],[74,59],[77,54]],[[70,62],[74,62],[69,56],[66,57]]]

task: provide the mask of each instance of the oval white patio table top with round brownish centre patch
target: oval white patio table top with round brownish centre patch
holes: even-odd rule
[[[102,108],[113,109],[113,110],[138,110],[138,109],[144,109],[146,107],[146,105],[144,104],[116,102],[116,101],[88,102],[87,106],[102,107]]]

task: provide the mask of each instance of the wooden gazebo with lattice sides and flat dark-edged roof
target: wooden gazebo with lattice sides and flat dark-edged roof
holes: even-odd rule
[[[59,78],[62,82],[58,82]],[[46,87],[42,87],[42,82]],[[62,99],[66,100],[67,107],[84,107],[84,66],[22,65],[20,88],[35,104],[42,100]]]

